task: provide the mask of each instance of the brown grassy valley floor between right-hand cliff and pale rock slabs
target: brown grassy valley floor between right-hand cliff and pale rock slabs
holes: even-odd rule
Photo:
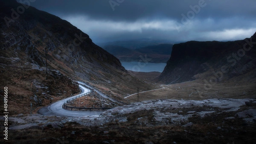
[[[139,93],[139,101],[151,99],[184,99],[204,100],[209,98],[256,98],[256,84],[224,82],[211,85],[205,89],[201,80],[188,81],[179,84],[160,85],[163,89]],[[141,92],[141,91],[139,91]],[[126,98],[130,102],[137,102],[138,96]]]

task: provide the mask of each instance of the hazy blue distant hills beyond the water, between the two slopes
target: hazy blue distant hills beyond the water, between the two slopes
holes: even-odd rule
[[[151,63],[166,63],[172,52],[172,44],[145,46],[139,49],[128,49],[122,46],[108,45],[104,49],[116,56],[121,62],[150,59]],[[142,58],[143,57],[143,58]]]

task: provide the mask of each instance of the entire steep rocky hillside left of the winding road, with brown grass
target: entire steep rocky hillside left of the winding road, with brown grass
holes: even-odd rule
[[[53,97],[79,92],[72,80],[88,82],[116,99],[136,92],[138,86],[155,87],[130,75],[116,57],[59,17],[15,0],[0,0],[0,18],[0,84],[10,87],[13,109],[30,109],[30,103],[36,109],[55,101]],[[47,102],[37,104],[36,98]],[[20,105],[21,99],[26,104]]]

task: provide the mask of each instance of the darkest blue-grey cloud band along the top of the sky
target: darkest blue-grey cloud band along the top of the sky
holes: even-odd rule
[[[117,0],[113,0],[116,2]],[[121,0],[120,0],[121,1]],[[60,14],[86,14],[95,19],[137,20],[142,17],[168,17],[180,19],[189,6],[198,5],[200,0],[122,0],[111,8],[110,0],[36,0],[38,9]],[[254,17],[255,0],[204,0],[208,5],[198,17]]]

